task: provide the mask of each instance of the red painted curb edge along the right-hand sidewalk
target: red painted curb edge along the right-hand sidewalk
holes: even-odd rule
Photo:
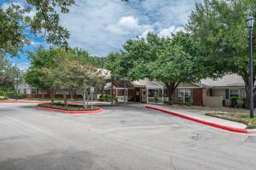
[[[186,115],[181,115],[181,114],[175,113],[173,111],[163,110],[161,108],[154,108],[152,106],[146,106],[145,108],[152,109],[152,110],[157,110],[157,111],[162,111],[164,113],[168,113],[168,114],[174,115],[176,117],[185,118],[187,120],[198,122],[198,123],[204,124],[204,125],[209,125],[209,126],[212,126],[212,127],[216,127],[218,129],[226,130],[226,131],[237,132],[237,133],[248,133],[247,129],[240,129],[240,128],[236,128],[236,127],[229,127],[229,126],[225,126],[225,125],[215,124],[215,123],[212,123],[212,122],[206,122],[206,121],[200,120],[198,118],[188,117]]]

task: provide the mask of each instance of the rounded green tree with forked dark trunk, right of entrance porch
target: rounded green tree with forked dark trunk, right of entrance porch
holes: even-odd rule
[[[168,101],[172,103],[174,90],[180,82],[194,82],[193,57],[184,52],[180,46],[172,44],[164,46],[157,60],[148,64],[152,77],[162,81],[168,90]]]

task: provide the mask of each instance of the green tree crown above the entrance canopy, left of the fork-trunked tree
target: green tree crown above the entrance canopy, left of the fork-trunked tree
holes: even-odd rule
[[[157,59],[157,53],[165,43],[164,38],[159,38],[157,34],[149,32],[147,38],[129,39],[123,46],[124,52],[120,60],[123,76],[130,80],[143,78],[152,79],[151,71],[147,64]]]

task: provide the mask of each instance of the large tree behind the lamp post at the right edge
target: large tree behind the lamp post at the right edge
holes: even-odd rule
[[[248,28],[246,17],[256,14],[253,0],[196,3],[188,31],[199,42],[204,55],[199,57],[207,76],[216,78],[227,73],[239,74],[245,83],[248,108]],[[253,56],[255,60],[255,55]],[[254,67],[253,71],[256,71]],[[255,76],[253,78],[253,84]]]

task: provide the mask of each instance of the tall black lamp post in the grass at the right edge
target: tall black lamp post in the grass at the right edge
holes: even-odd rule
[[[249,103],[250,103],[250,118],[253,118],[253,54],[252,54],[252,29],[254,24],[254,17],[248,17],[246,23],[249,29],[249,73],[250,73],[250,83],[249,83]]]

